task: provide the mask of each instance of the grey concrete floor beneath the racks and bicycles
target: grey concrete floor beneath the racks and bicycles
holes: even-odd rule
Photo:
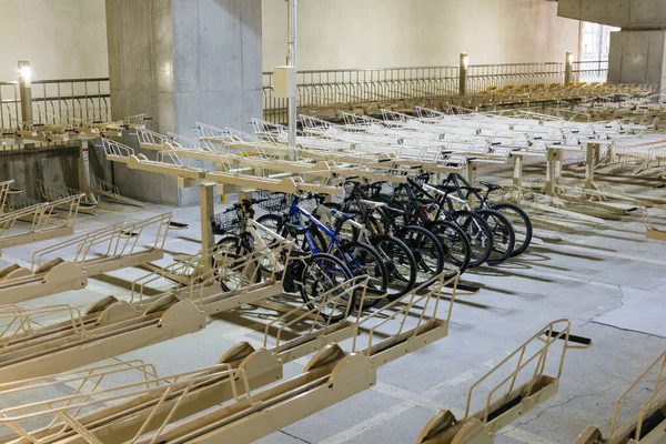
[[[506,170],[493,172],[503,178],[507,174]],[[198,208],[128,206],[123,213],[81,215],[77,228],[82,232],[165,211],[174,211],[176,221],[190,224],[186,230],[170,233],[168,253],[194,253],[200,236]],[[653,220],[666,226],[666,212],[654,212]],[[573,334],[593,339],[594,346],[567,352],[559,393],[500,432],[495,442],[572,443],[588,424],[599,425],[607,433],[615,400],[666,350],[666,323],[658,314],[666,311],[666,244],[649,241],[644,233],[640,216],[627,216],[626,221],[607,222],[604,229],[591,233],[563,234],[561,242],[533,245],[527,253],[501,266],[465,274],[465,281],[477,283],[483,290],[476,295],[458,296],[448,337],[381,367],[375,387],[266,436],[261,443],[415,442],[440,408],[452,408],[460,415],[471,384],[539,327],[561,317],[572,321]],[[36,246],[4,250],[0,265],[29,261]],[[127,297],[131,281],[144,273],[109,273],[91,280],[85,290],[23,305],[69,303],[85,307],[108,294]],[[634,313],[630,317],[639,321],[636,327],[622,330],[602,321],[601,316],[613,314],[624,304]],[[152,362],[161,375],[212,365],[235,343],[261,339],[240,317],[240,313],[226,313],[211,319],[199,333],[117,359]],[[287,364],[285,376],[300,372],[303,362]],[[638,401],[632,400],[629,413],[637,405]]]

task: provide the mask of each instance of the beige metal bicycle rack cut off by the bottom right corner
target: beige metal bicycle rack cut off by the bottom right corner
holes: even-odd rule
[[[598,427],[588,426],[576,440],[575,444],[657,444],[666,438],[666,352],[662,353],[656,361],[626,392],[619,396],[613,413],[610,434],[604,438]],[[638,413],[632,415],[624,423],[619,422],[623,401],[628,401],[630,395],[645,390],[642,384],[650,384],[656,381],[649,393],[648,400],[640,405]]]

